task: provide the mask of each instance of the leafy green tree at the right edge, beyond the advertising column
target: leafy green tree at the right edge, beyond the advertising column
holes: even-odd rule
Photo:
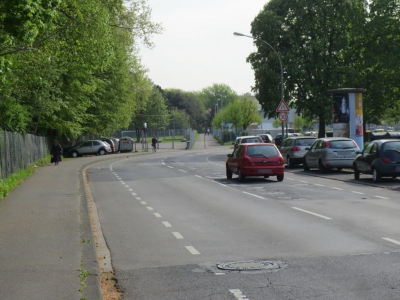
[[[400,119],[400,1],[369,1],[365,34],[358,40],[364,123]]]

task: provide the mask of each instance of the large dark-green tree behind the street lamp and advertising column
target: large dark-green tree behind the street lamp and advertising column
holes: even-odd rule
[[[362,35],[365,1],[270,0],[251,23],[251,34],[279,53],[284,69],[284,96],[299,113],[319,118],[319,134],[331,120],[327,90],[358,84],[354,40]],[[280,67],[262,41],[247,60],[255,74],[254,91],[269,117],[280,101]]]

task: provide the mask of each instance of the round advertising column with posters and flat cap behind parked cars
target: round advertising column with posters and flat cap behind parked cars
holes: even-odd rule
[[[334,137],[349,137],[363,148],[362,93],[364,88],[330,89]]]

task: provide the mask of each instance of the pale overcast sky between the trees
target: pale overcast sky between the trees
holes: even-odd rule
[[[267,0],[147,0],[151,19],[162,34],[155,47],[140,48],[148,76],[162,88],[201,90],[225,83],[236,93],[249,92],[254,73],[246,57],[255,50],[250,23]]]

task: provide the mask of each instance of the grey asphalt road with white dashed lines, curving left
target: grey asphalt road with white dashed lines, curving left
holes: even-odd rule
[[[88,169],[123,299],[400,299],[400,181],[294,168],[241,183],[225,177],[230,151]],[[248,260],[279,268],[216,267]]]

